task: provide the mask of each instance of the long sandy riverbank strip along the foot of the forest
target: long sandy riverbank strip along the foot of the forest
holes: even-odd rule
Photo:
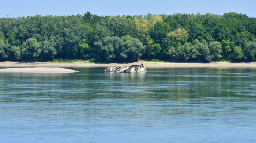
[[[0,62],[0,67],[120,67],[143,64],[147,67],[234,67],[234,68],[256,68],[256,62],[211,62],[211,63],[180,63],[180,62],[147,62],[139,61],[133,63],[91,63],[82,62]]]

